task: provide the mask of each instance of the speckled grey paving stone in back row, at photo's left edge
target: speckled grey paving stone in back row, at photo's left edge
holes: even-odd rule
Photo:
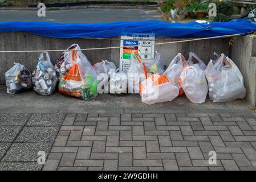
[[[0,126],[24,126],[31,114],[0,114]]]

